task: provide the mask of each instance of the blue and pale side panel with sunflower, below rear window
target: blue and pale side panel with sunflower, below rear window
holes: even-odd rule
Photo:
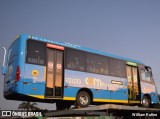
[[[45,67],[25,64],[23,94],[45,95]]]

